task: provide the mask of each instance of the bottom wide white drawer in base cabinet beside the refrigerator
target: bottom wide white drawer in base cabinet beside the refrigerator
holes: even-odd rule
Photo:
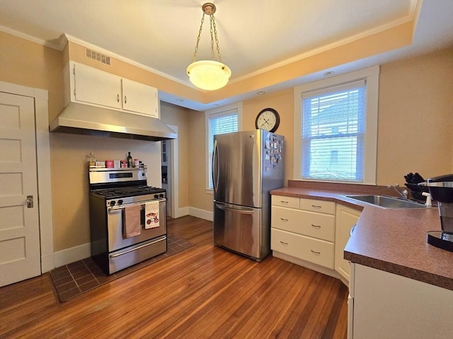
[[[271,228],[270,249],[333,269],[332,242]]]

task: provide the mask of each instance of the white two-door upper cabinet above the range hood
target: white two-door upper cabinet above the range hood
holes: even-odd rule
[[[70,61],[69,69],[65,75],[69,73],[72,102],[159,118],[156,88],[74,61]]]

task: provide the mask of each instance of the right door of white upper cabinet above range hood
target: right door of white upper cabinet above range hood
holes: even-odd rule
[[[156,88],[123,78],[122,109],[159,118]]]

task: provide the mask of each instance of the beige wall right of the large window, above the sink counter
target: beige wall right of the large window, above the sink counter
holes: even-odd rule
[[[452,48],[381,67],[378,138],[378,184],[453,173]]]

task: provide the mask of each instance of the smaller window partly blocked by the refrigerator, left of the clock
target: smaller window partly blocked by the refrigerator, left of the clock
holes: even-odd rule
[[[235,104],[219,107],[205,112],[206,119],[206,149],[207,149],[207,189],[212,190],[212,153],[214,153],[214,135],[239,131],[242,105]]]

